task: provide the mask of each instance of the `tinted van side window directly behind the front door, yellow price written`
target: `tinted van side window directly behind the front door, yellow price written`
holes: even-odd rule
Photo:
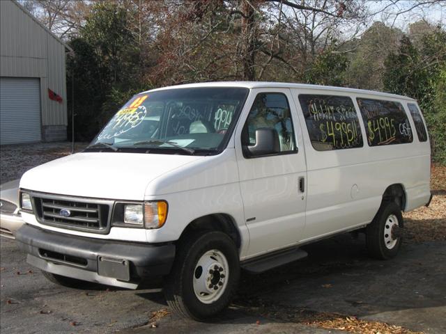
[[[362,148],[360,122],[350,97],[301,94],[299,102],[315,150]]]

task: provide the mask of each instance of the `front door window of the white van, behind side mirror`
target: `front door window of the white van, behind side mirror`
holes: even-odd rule
[[[272,129],[279,136],[279,152],[296,152],[291,111],[282,93],[259,93],[252,104],[242,133],[245,145],[256,145],[256,130]]]

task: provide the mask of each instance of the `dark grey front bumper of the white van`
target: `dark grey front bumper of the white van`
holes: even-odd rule
[[[77,237],[23,225],[16,239],[28,253],[27,262],[43,271],[90,282],[136,289],[146,278],[165,276],[175,257],[174,244],[137,244],[123,241]],[[100,259],[126,262],[128,280],[108,272],[100,274]]]

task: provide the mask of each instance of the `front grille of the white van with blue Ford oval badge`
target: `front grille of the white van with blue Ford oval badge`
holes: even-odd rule
[[[70,230],[107,233],[113,202],[86,198],[60,198],[33,194],[40,223]]]

